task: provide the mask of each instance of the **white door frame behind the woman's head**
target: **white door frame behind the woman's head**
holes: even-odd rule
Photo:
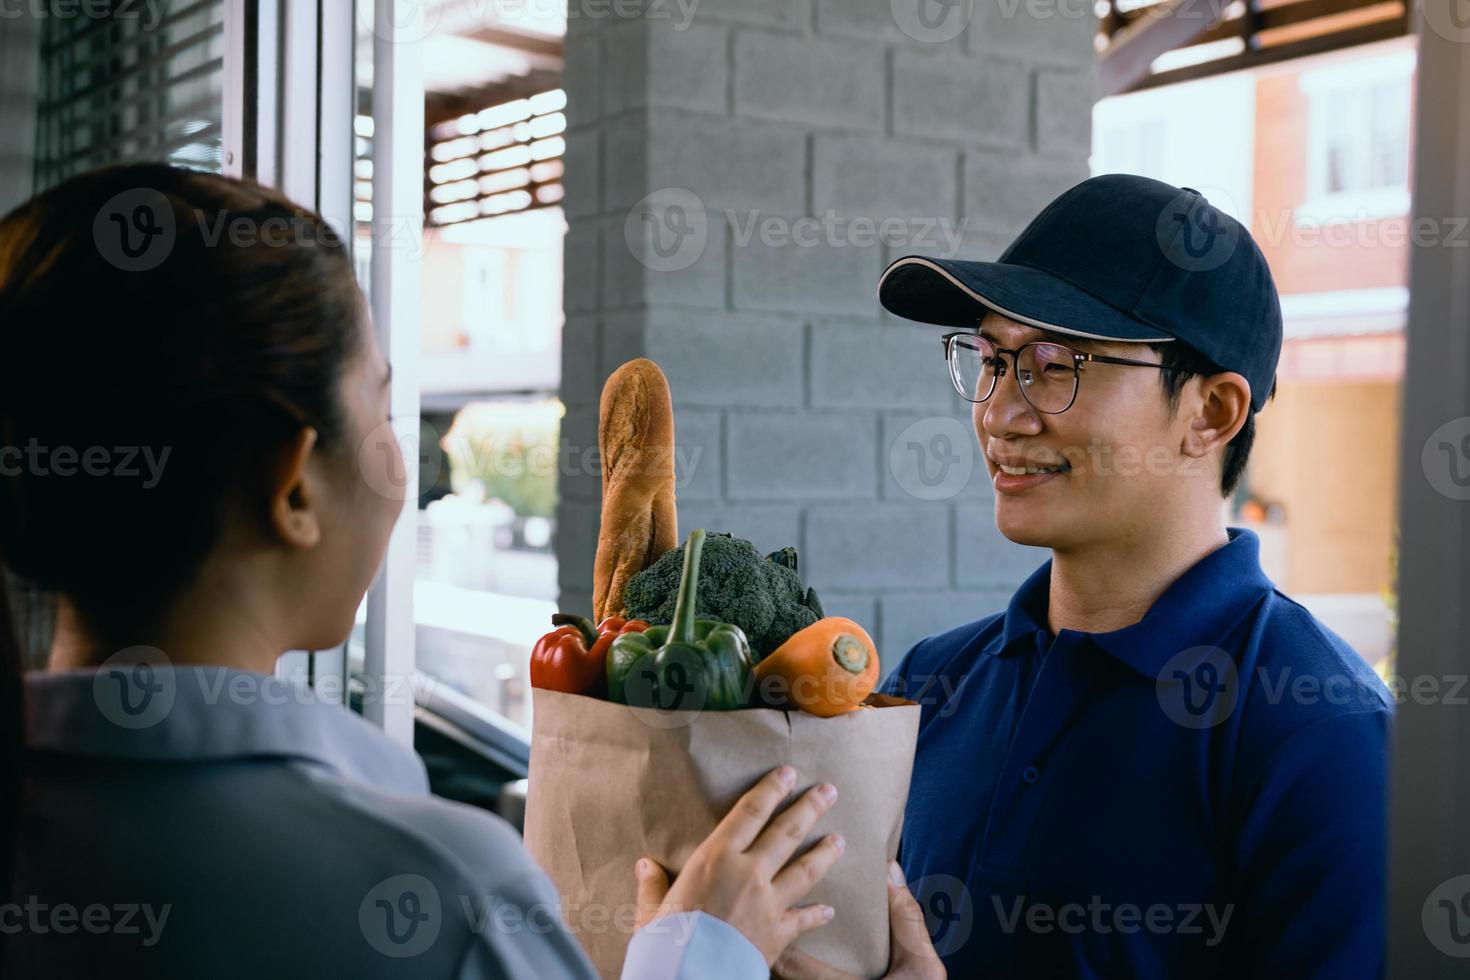
[[[225,172],[281,188],[338,234],[353,229],[359,4],[372,4],[373,235],[369,304],[392,363],[391,414],[419,417],[419,260],[423,237],[423,71],[406,0],[226,0]],[[409,425],[397,429],[407,433]],[[416,455],[416,450],[412,455]],[[368,595],[363,717],[413,742],[417,467]],[[345,646],[291,652],[278,673],[341,699]],[[331,683],[326,683],[331,682]]]

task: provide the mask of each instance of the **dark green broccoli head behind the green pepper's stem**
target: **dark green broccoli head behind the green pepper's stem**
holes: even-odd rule
[[[629,579],[623,591],[628,617],[670,623],[682,570],[681,545]],[[739,626],[757,661],[822,619],[817,594],[797,574],[794,548],[761,557],[756,545],[728,532],[706,536],[698,589],[695,616]]]

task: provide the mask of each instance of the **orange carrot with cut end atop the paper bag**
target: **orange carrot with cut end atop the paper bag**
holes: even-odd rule
[[[878,683],[878,649],[861,626],[829,616],[756,664],[763,699],[823,718],[856,711]]]

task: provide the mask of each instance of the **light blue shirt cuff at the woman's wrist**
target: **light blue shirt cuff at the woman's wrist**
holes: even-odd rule
[[[767,980],[770,967],[729,923],[675,912],[648,923],[628,943],[622,980]]]

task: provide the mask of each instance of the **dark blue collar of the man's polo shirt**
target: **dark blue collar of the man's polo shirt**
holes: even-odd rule
[[[1260,539],[1230,527],[1229,541],[1179,576],[1144,619],[1108,633],[1076,633],[1091,639],[1138,673],[1157,679],[1170,658],[1223,636],[1276,586],[1261,572]],[[1051,561],[1036,569],[1005,608],[998,655],[1033,649],[1035,633],[1047,630]],[[1020,642],[1026,641],[1026,642]]]

